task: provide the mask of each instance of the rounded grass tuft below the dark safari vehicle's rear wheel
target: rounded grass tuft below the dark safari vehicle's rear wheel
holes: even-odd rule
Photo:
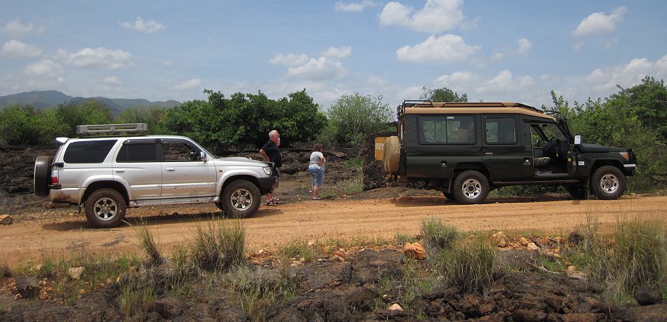
[[[436,264],[450,286],[461,293],[483,293],[501,269],[498,250],[487,239],[475,238],[461,242],[458,247],[442,250]]]

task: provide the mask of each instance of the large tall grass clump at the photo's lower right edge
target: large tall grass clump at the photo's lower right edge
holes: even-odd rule
[[[610,302],[633,301],[640,286],[667,288],[667,224],[663,220],[621,218],[610,243],[591,248],[590,276],[605,290]],[[664,296],[663,296],[664,297]]]

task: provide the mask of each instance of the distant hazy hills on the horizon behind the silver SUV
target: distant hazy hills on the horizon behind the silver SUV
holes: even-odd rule
[[[32,92],[0,96],[0,107],[19,104],[32,105],[36,109],[45,109],[46,107],[58,106],[58,104],[79,104],[89,100],[96,100],[104,105],[107,105],[112,109],[114,114],[119,114],[124,109],[128,109],[130,107],[175,107],[180,105],[180,102],[176,100],[168,100],[166,102],[150,102],[149,100],[144,100],[143,98],[73,98],[72,96],[65,95],[58,90],[33,90]]]

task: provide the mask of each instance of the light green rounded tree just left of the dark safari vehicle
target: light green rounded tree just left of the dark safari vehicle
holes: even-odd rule
[[[338,143],[363,145],[367,135],[391,130],[389,123],[393,120],[393,111],[382,102],[381,96],[374,99],[359,93],[343,95],[329,109],[329,121]]]

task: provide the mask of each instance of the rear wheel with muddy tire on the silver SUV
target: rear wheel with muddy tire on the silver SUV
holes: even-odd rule
[[[125,219],[125,199],[114,189],[99,189],[85,203],[86,218],[98,228],[117,227]]]

